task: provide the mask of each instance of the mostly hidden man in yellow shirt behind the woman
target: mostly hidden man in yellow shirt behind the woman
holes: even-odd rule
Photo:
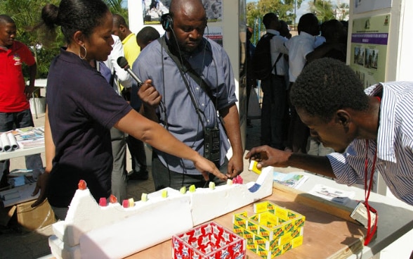
[[[122,40],[122,44],[124,44],[124,53],[126,61],[128,61],[128,64],[132,66],[133,62],[136,61],[136,58],[140,53],[140,47],[136,42],[135,34],[131,32],[131,30],[129,30],[129,26],[127,25],[122,15],[113,15],[112,34],[117,35]],[[131,90],[134,91],[136,89],[133,87],[131,88]],[[138,106],[140,106],[140,100],[137,100],[136,96],[134,96],[134,94],[131,94],[131,92],[128,92],[128,96],[130,96],[129,100],[132,99],[131,106],[138,111]],[[147,180],[148,172],[146,164],[145,147],[143,146],[142,141],[132,138],[133,137],[130,138],[128,136],[126,139],[126,143],[128,144],[132,160],[132,171],[128,173],[128,177],[129,179],[135,180]]]

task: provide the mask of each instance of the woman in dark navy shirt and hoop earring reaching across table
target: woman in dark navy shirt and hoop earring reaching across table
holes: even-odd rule
[[[45,116],[46,170],[33,195],[32,207],[47,197],[55,215],[64,219],[79,180],[93,198],[111,194],[112,148],[110,129],[141,139],[156,149],[188,159],[205,179],[226,175],[160,125],[133,110],[113,91],[105,77],[90,65],[105,61],[112,51],[112,13],[102,0],[62,0],[41,12],[46,32],[59,25],[67,42],[51,62]],[[146,80],[142,87],[151,87]]]

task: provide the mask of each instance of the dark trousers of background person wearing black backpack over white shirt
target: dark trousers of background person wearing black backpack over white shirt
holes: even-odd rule
[[[287,101],[284,76],[272,75],[261,81],[261,145],[284,149],[284,116]]]

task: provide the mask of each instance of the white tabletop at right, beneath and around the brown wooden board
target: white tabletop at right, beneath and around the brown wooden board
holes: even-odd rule
[[[365,191],[358,187],[348,187],[343,184],[337,184],[334,180],[307,172],[293,172],[297,175],[308,175],[309,179],[299,188],[301,191],[310,191],[315,184],[323,184],[327,187],[340,189],[343,191],[354,191],[355,197],[346,204],[346,207],[355,208],[358,201],[365,200]],[[376,193],[371,193],[369,204],[377,210],[379,214],[377,222],[376,239],[370,242],[368,246],[364,246],[360,253],[355,253],[349,258],[371,258],[386,248],[393,241],[396,241],[401,236],[413,229],[413,206],[409,206],[396,198],[383,196]],[[411,246],[412,244],[407,244]]]

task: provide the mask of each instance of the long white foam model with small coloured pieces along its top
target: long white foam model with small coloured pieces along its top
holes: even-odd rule
[[[186,194],[166,188],[131,208],[119,203],[101,207],[89,189],[78,189],[65,220],[53,224],[49,246],[55,258],[124,258],[272,193],[271,167],[264,168],[256,182]]]

